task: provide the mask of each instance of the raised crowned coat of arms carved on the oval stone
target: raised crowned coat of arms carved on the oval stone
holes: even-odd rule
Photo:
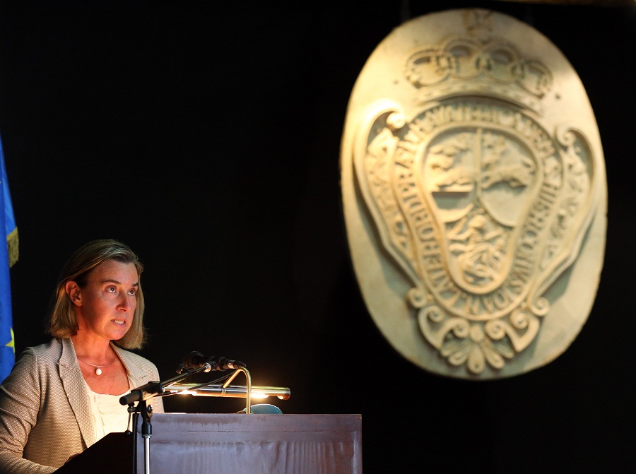
[[[415,100],[370,107],[355,173],[423,338],[450,365],[501,369],[577,257],[591,147],[575,126],[542,124],[546,66],[483,31],[420,47],[404,71]]]

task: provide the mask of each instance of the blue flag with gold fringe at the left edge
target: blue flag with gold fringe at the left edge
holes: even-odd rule
[[[11,372],[16,362],[11,317],[11,279],[9,268],[18,261],[18,227],[13,216],[13,204],[8,189],[4,153],[0,142],[0,229],[4,229],[6,245],[0,244],[0,381]]]

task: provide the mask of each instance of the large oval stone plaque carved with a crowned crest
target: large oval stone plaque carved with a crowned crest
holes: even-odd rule
[[[367,309],[436,374],[541,367],[589,316],[607,186],[584,87],[540,32],[481,9],[404,23],[355,83],[343,208]]]

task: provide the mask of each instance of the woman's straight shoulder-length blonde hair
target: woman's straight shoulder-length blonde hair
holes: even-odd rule
[[[134,263],[137,269],[137,281],[139,288],[136,291],[137,307],[134,312],[130,329],[124,337],[117,341],[117,345],[124,349],[141,349],[146,343],[146,328],[143,327],[143,292],[141,291],[141,272],[143,265],[139,257],[122,242],[112,239],[93,240],[77,249],[66,261],[61,271],[54,295],[54,306],[49,316],[47,333],[54,338],[70,338],[78,331],[75,305],[66,294],[66,283],[74,281],[80,288],[84,288],[88,283],[88,275],[107,260],[119,261],[122,263]]]

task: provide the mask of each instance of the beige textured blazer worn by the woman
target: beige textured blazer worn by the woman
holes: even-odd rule
[[[152,362],[113,348],[133,388],[160,381]],[[161,398],[153,398],[152,405],[154,413],[163,413]],[[88,391],[71,339],[27,348],[0,385],[0,474],[52,473],[95,441]]]

